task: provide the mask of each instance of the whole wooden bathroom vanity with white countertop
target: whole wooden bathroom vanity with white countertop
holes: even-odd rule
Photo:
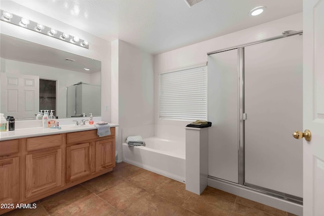
[[[105,137],[98,137],[96,127],[89,125],[28,128],[34,134],[26,133],[28,129],[2,133],[0,214],[15,209],[17,203],[36,201],[112,171],[118,125],[110,125],[111,135]]]

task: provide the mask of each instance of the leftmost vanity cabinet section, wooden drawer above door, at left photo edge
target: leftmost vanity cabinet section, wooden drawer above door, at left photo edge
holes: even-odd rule
[[[19,140],[0,143],[0,203],[19,200]],[[1,213],[1,211],[0,211]]]

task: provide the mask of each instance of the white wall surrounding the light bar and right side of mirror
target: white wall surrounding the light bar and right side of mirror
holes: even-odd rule
[[[22,17],[28,17],[30,20],[42,22],[46,26],[56,28],[63,32],[68,32],[70,35],[79,36],[82,39],[88,40],[90,43],[89,50],[69,44],[56,38],[46,36],[19,26],[12,25],[6,22],[0,22],[1,33],[7,34],[20,39],[35,42],[51,48],[63,50],[80,56],[96,59],[101,61],[101,113],[102,120],[111,122],[110,109],[104,109],[105,105],[110,107],[111,103],[111,52],[110,42],[97,37],[91,33],[77,29],[71,25],[60,22],[56,19],[48,17],[44,14],[25,8],[11,1],[1,1],[1,9],[17,14]]]

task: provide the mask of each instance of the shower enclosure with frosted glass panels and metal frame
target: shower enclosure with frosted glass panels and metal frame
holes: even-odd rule
[[[302,204],[302,107],[302,31],[209,53],[209,178]]]

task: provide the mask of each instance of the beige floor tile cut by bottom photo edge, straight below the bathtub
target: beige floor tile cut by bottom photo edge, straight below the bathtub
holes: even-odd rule
[[[125,211],[126,215],[172,215],[180,206],[165,200],[155,194],[148,193],[133,202]]]

